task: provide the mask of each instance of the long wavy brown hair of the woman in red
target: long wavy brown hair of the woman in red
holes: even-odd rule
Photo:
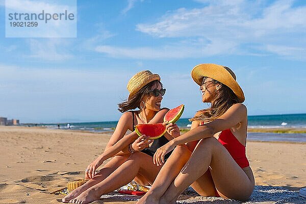
[[[203,82],[205,82],[206,79],[207,78],[204,78]],[[189,121],[211,122],[223,115],[231,106],[239,103],[239,98],[234,93],[234,91],[221,82],[213,79],[208,85],[205,86],[218,83],[221,84],[221,88],[218,90],[218,94],[212,101],[211,106],[207,109],[197,111],[194,117],[189,119]],[[207,89],[205,91],[208,91],[210,94],[212,94]]]

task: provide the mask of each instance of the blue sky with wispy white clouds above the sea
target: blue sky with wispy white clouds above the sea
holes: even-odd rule
[[[0,0],[0,116],[118,120],[127,81],[148,69],[167,89],[162,105],[185,104],[191,117],[207,107],[190,77],[199,63],[235,71],[249,115],[306,112],[305,1],[79,0],[77,8],[77,38],[6,38]]]

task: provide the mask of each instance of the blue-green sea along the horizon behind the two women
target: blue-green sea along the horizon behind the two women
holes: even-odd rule
[[[104,122],[69,122],[68,123],[48,123],[36,124],[49,129],[81,130],[89,132],[113,132],[118,121]],[[181,118],[176,124],[181,129],[191,126],[188,118]],[[28,124],[29,125],[29,124]],[[33,124],[31,124],[33,125]],[[69,126],[69,128],[68,128]],[[284,114],[284,115],[259,115],[248,116],[248,127],[257,129],[287,129],[287,128],[306,128],[306,114]],[[256,141],[288,141],[288,142],[306,142],[306,133],[253,133],[247,134],[248,140]]]

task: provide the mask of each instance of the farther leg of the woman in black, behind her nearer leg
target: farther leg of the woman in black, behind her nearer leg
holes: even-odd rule
[[[80,186],[79,188],[74,189],[71,193],[66,195],[63,199],[62,202],[68,202],[69,200],[79,196],[82,192],[86,191],[90,187],[98,184],[99,182],[105,180],[107,176],[109,176],[113,171],[115,171],[121,164],[123,164],[130,155],[122,155],[122,156],[115,156],[112,158],[106,165],[101,168],[96,175],[94,176],[93,179],[89,180],[86,182],[84,185]],[[139,178],[138,178],[138,177]],[[136,179],[137,182],[139,183],[147,183],[144,181],[143,176],[137,175]]]

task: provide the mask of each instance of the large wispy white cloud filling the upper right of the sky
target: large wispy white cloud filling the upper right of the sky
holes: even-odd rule
[[[258,44],[254,54],[274,53],[295,58],[306,46],[306,7],[293,7],[294,1],[206,1],[203,8],[167,12],[155,23],[139,23],[136,30],[159,38],[205,38],[212,44],[227,42],[236,54],[252,54],[245,44]],[[265,46],[269,44],[269,46]],[[294,47],[294,52],[276,52],[273,46]],[[239,48],[238,48],[239,47]],[[213,49],[219,49],[216,46]],[[219,54],[216,52],[215,54]],[[298,57],[306,60],[305,55]]]

